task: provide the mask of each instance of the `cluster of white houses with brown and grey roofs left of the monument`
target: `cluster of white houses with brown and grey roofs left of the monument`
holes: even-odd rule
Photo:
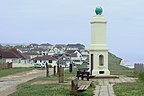
[[[42,63],[56,66],[61,59],[63,67],[69,67],[69,64],[81,65],[88,64],[89,51],[83,44],[29,44],[16,46],[2,46],[0,49],[1,63],[12,63],[11,67],[32,67],[34,64]],[[5,65],[1,65],[1,67]]]

